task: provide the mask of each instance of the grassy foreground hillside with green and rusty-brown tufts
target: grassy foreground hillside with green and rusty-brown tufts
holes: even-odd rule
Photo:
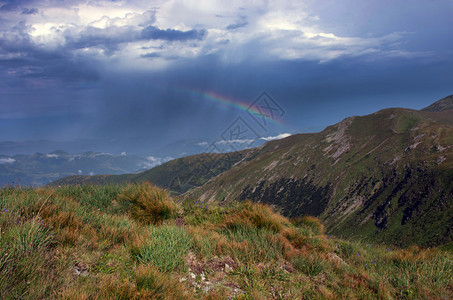
[[[148,184],[0,190],[2,299],[448,299],[453,253]]]

